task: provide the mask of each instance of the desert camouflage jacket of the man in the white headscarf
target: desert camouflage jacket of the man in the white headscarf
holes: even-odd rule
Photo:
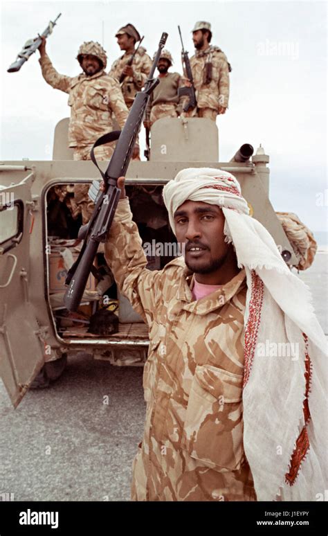
[[[138,501],[254,501],[243,445],[245,272],[193,301],[183,258],[147,259],[128,199],[120,200],[105,258],[149,326],[143,441],[133,464]]]

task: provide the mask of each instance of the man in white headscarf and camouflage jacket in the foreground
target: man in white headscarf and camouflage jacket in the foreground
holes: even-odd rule
[[[105,258],[150,339],[132,499],[316,501],[327,344],[309,289],[230,173],[185,169],[163,188],[184,253],[162,271],[145,268],[118,186]]]

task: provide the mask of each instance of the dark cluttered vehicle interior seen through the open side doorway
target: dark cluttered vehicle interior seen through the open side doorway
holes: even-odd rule
[[[158,185],[126,186],[149,270],[162,269],[179,254],[163,204],[162,188]],[[48,298],[57,334],[64,340],[101,337],[113,341],[147,339],[147,325],[118,291],[111,269],[104,259],[104,244],[100,244],[98,249],[94,262],[95,275],[90,274],[88,278],[78,311],[69,312],[64,307],[67,272],[82,247],[82,240],[78,239],[82,214],[75,202],[73,183],[60,183],[48,190],[46,222]],[[156,248],[157,244],[171,244],[172,247],[165,251]]]

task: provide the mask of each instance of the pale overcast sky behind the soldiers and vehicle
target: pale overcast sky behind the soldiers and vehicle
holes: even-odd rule
[[[174,70],[181,72],[176,25],[192,53],[194,22],[210,21],[212,43],[233,66],[229,109],[217,120],[220,161],[242,143],[255,149],[262,143],[275,209],[327,231],[326,2],[1,1],[1,161],[51,159],[54,127],[69,116],[66,93],[42,78],[38,52],[18,73],[6,72],[24,42],[59,12],[48,54],[57,71],[71,76],[80,73],[80,44],[91,39],[103,44],[110,66],[120,55],[115,33],[127,22],[145,35],[151,55],[166,31]]]

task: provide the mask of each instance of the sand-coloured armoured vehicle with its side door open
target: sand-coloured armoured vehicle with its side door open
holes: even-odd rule
[[[59,377],[73,352],[89,352],[119,366],[143,365],[147,357],[147,326],[118,294],[101,251],[102,276],[89,278],[78,314],[64,309],[66,271],[80,245],[81,222],[69,211],[73,185],[100,179],[91,161],[72,160],[68,121],[55,128],[53,160],[0,163],[0,373],[15,407],[30,386],[46,386]],[[217,126],[202,118],[160,119],[151,136],[149,161],[131,161],[126,181],[144,247],[155,247],[149,269],[161,269],[177,254],[156,255],[156,243],[174,244],[161,200],[163,185],[183,168],[204,166],[237,177],[253,217],[266,226],[284,260],[297,264],[269,201],[269,157],[263,148],[251,157],[253,148],[246,143],[230,161],[221,162]],[[105,170],[107,163],[100,167]],[[118,331],[92,328],[100,308],[115,310]]]

